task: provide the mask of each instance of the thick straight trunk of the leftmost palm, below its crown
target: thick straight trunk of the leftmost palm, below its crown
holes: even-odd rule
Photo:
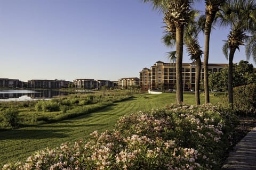
[[[176,104],[183,102],[183,88],[182,88],[182,57],[183,57],[183,31],[184,26],[179,25],[176,27],[176,78],[177,78],[177,92],[176,92]]]

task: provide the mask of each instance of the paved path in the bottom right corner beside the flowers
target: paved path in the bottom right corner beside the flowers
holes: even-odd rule
[[[256,169],[256,127],[250,131],[230,152],[223,170]]]

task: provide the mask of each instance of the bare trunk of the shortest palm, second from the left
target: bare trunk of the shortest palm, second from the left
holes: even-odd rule
[[[201,58],[199,57],[196,60],[196,87],[195,87],[195,97],[196,97],[196,105],[200,105],[200,79],[201,79],[201,68],[202,68],[202,62]]]

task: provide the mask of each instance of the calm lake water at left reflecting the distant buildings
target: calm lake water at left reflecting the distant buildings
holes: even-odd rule
[[[63,95],[68,95],[68,93],[58,90],[0,90],[0,102],[51,99],[53,96]]]

